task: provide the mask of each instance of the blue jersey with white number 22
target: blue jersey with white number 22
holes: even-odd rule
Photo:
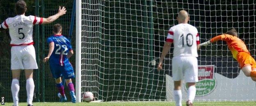
[[[59,64],[60,66],[69,64],[69,59],[66,57],[72,50],[69,40],[63,35],[52,35],[47,39],[47,42],[54,42],[54,50],[49,60],[50,64]]]

